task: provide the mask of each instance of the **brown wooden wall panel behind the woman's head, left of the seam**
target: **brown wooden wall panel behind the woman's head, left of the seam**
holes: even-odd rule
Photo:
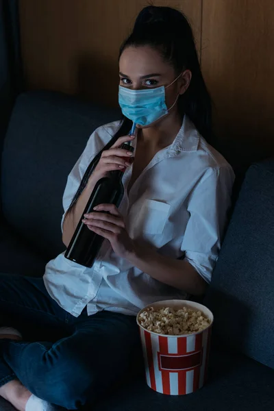
[[[46,88],[117,104],[118,52],[145,0],[20,0],[29,88]],[[183,10],[198,47],[201,0],[159,0]]]

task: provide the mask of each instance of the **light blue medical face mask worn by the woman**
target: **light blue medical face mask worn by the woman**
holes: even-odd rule
[[[181,77],[180,74],[173,83]],[[150,125],[156,120],[161,119],[169,110],[177,103],[166,107],[166,92],[165,89],[169,86],[161,86],[156,88],[148,88],[147,90],[131,90],[130,88],[119,86],[119,104],[124,116],[132,120],[134,123],[142,126]]]

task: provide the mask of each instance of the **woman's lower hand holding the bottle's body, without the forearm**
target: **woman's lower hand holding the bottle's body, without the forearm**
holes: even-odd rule
[[[127,234],[123,216],[114,204],[100,204],[95,210],[96,212],[84,214],[82,222],[92,232],[109,240],[117,256],[127,258],[134,250],[134,241]]]

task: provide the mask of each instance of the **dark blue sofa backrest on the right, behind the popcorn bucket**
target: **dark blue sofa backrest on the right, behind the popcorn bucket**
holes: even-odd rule
[[[274,368],[274,159],[247,171],[205,303],[223,343]]]

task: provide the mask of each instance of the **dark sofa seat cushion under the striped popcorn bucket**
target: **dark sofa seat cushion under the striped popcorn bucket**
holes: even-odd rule
[[[127,379],[92,411],[269,411],[273,386],[269,367],[242,355],[213,351],[208,384],[196,393],[179,397],[155,393],[144,376],[135,382]]]

